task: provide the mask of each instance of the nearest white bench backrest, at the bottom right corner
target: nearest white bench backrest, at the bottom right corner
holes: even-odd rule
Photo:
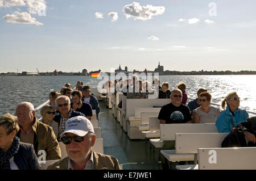
[[[245,148],[200,148],[200,170],[255,170],[256,147]]]

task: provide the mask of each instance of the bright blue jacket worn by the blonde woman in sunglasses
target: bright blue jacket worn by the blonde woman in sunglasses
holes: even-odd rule
[[[233,125],[231,120],[233,120],[234,126],[236,127],[249,117],[246,110],[241,110],[240,108],[234,112],[234,115],[230,112],[229,106],[226,107],[226,110],[221,111],[215,123],[219,133],[230,133],[232,131]]]

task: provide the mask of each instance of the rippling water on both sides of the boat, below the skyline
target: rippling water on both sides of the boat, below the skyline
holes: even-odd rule
[[[59,91],[66,82],[75,87],[77,81],[96,87],[98,79],[89,76],[49,76],[49,77],[0,77],[0,115],[15,113],[16,105],[23,101],[34,104],[35,108],[48,100],[49,92]],[[160,76],[160,82],[169,82],[170,89],[179,82],[187,85],[188,98],[195,99],[200,87],[207,88],[212,95],[212,103],[221,104],[225,95],[237,91],[241,98],[240,107],[256,112],[256,75],[184,75]],[[38,114],[37,114],[38,115]]]

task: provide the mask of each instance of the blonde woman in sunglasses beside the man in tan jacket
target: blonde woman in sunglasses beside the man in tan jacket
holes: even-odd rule
[[[49,125],[52,127],[53,132],[55,133],[55,136],[58,136],[59,133],[59,124],[56,121],[53,121],[53,117],[55,114],[55,109],[50,105],[44,105],[41,110],[40,114],[42,116],[42,120],[40,120],[42,123]]]

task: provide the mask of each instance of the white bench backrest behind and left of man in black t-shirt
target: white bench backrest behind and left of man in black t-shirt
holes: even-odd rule
[[[164,106],[171,103],[171,99],[126,99],[126,116],[135,115],[135,107]]]

